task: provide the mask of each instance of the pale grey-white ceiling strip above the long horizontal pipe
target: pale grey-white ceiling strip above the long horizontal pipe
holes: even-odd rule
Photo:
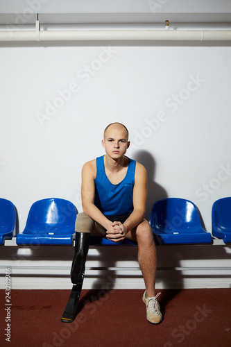
[[[231,0],[0,0],[0,24],[231,24]]]

